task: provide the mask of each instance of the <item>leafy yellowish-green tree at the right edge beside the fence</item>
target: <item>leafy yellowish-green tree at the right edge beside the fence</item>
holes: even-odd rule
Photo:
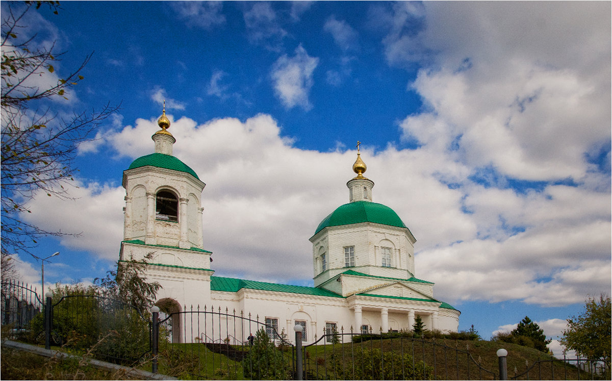
[[[610,296],[589,298],[584,303],[584,312],[567,319],[561,344],[591,360],[605,359],[610,367],[612,347],[612,307]]]

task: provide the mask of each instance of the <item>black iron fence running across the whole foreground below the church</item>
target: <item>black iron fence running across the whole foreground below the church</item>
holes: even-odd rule
[[[457,341],[411,333],[362,334],[326,326],[302,347],[297,374],[294,332],[244,312],[217,307],[167,306],[164,312],[100,295],[56,295],[41,303],[35,289],[2,282],[0,320],[10,339],[58,345],[154,372],[187,379],[494,380],[504,377],[494,353]],[[45,312],[42,314],[41,312]],[[473,347],[478,342],[471,342]],[[477,355],[481,353],[481,355]],[[609,380],[610,360],[542,358],[510,353],[515,380]]]

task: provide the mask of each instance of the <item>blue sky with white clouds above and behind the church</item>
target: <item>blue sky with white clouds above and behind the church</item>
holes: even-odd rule
[[[25,21],[67,52],[56,75],[94,52],[54,108],[121,104],[80,146],[76,200],[29,205],[82,233],[41,244],[61,251],[49,282],[117,260],[122,171],[152,153],[165,99],[174,154],[207,183],[218,275],[312,284],[308,238],[348,202],[360,140],[375,202],[414,233],[416,276],[460,329],[529,315],[555,338],[610,292],[609,2],[75,1]]]

